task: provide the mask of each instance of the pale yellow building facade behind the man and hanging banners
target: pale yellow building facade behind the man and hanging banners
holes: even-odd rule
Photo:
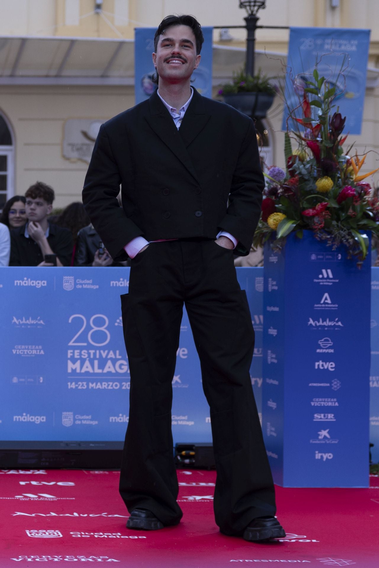
[[[214,94],[245,59],[245,12],[238,0],[0,0],[0,208],[37,179],[56,192],[56,207],[81,199],[98,124],[134,105],[134,28],[191,13],[214,30]],[[266,26],[371,28],[377,0],[266,0]],[[288,30],[257,30],[257,67],[280,69]],[[265,55],[266,54],[266,55]],[[379,151],[379,28],[371,33],[359,152]],[[268,165],[283,165],[282,102],[263,123]],[[352,142],[353,140],[351,140]],[[376,181],[376,180],[375,180]]]

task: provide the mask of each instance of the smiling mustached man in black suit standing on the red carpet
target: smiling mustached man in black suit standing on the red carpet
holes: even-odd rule
[[[249,252],[264,187],[252,120],[190,86],[200,61],[193,16],[167,16],[155,35],[159,88],[102,125],[83,191],[114,260],[131,260],[122,296],[131,374],[120,494],[127,527],[178,524],[172,378],[185,303],[210,406],[216,523],[259,541],[285,536],[249,368],[251,315],[234,268]],[[122,204],[117,195],[122,184]]]

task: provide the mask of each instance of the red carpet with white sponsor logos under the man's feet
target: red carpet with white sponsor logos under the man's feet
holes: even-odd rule
[[[209,471],[178,471],[184,511],[178,527],[129,531],[118,478],[118,471],[0,471],[0,568],[39,562],[128,568],[379,566],[378,478],[371,478],[370,489],[277,487],[278,519],[288,537],[272,544],[218,532],[215,473]]]

